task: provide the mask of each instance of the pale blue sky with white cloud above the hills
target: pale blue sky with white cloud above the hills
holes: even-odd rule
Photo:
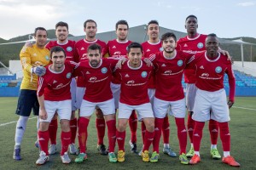
[[[0,0],[0,37],[22,36],[38,26],[54,29],[58,21],[81,36],[88,19],[96,20],[98,32],[113,31],[118,20],[130,27],[158,20],[160,26],[185,32],[189,14],[197,16],[200,33],[256,38],[256,0]]]

